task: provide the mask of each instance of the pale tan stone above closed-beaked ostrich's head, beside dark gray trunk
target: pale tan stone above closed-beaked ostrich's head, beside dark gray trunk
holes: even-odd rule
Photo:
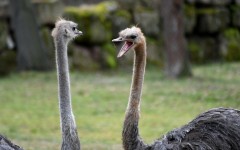
[[[54,24],[62,16],[63,4],[61,1],[33,1],[34,11],[38,24]]]

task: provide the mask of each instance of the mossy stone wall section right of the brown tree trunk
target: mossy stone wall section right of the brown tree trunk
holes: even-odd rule
[[[187,48],[193,62],[240,60],[239,8],[238,0],[186,0]]]

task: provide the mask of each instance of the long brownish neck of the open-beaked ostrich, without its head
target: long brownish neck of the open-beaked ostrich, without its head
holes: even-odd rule
[[[138,122],[142,85],[146,65],[146,44],[135,48],[132,85],[123,127],[123,147],[125,150],[142,149],[146,145],[139,136]]]

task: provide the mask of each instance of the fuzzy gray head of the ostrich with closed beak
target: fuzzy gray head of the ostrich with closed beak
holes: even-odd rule
[[[75,22],[59,19],[52,31],[52,36],[54,38],[64,38],[68,42],[78,35],[82,35],[82,32],[77,29],[77,26]]]

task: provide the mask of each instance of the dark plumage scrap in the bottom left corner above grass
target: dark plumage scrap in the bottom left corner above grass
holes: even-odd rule
[[[0,135],[0,150],[23,150],[21,147],[13,144],[3,135]]]

